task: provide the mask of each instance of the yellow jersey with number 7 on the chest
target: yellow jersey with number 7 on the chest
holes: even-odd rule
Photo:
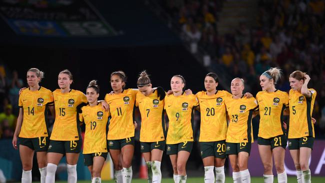
[[[157,90],[154,90],[149,96],[137,92],[135,106],[139,107],[141,114],[140,141],[154,142],[164,140],[164,99],[159,100]]]

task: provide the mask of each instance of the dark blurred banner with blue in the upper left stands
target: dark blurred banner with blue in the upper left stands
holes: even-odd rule
[[[117,34],[88,0],[0,0],[0,15],[20,35],[92,37]]]

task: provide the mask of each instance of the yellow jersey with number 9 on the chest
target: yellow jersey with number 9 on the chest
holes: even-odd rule
[[[164,109],[166,110],[169,127],[167,132],[167,144],[175,144],[193,140],[192,120],[194,107],[198,101],[194,94],[179,96],[166,95]]]

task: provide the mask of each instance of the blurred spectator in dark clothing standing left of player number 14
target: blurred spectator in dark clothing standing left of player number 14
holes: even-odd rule
[[[9,100],[11,105],[13,106],[13,113],[18,114],[18,99],[19,99],[19,89],[22,87],[23,82],[20,78],[18,78],[18,72],[14,70],[12,72],[12,78],[8,82],[9,84]]]

